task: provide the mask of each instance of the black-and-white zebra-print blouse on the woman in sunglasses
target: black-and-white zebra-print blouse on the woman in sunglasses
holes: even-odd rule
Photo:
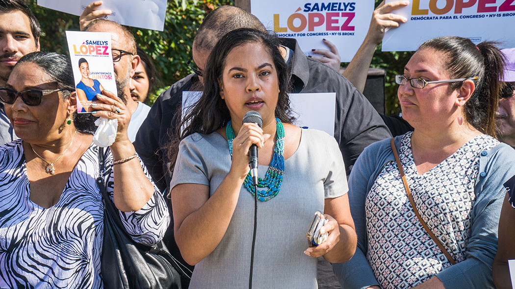
[[[106,149],[107,191],[113,197],[112,155]],[[100,254],[104,206],[95,179],[98,147],[91,145],[73,169],[59,201],[42,208],[29,199],[22,141],[0,146],[0,288],[102,288]],[[141,163],[141,160],[140,160]],[[150,175],[142,163],[149,180]],[[170,216],[155,194],[140,210],[120,212],[135,242],[155,244]]]

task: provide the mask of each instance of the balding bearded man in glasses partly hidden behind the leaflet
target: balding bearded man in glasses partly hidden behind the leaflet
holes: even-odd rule
[[[129,140],[134,142],[136,132],[138,132],[150,111],[150,106],[134,101],[130,94],[130,81],[141,61],[140,56],[136,54],[134,36],[122,25],[98,18],[89,22],[84,27],[84,31],[111,33],[111,53],[113,55],[116,89],[118,90],[118,97],[122,99],[131,113],[127,132]]]

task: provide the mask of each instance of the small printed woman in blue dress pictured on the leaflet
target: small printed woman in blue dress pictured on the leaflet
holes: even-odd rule
[[[90,78],[90,65],[85,58],[79,59],[79,69],[81,80],[77,84],[77,99],[80,102],[85,102],[87,104],[91,101],[98,101],[96,95],[98,93],[102,93],[104,91],[104,87],[100,84],[100,82],[96,79]],[[85,105],[86,108],[82,108],[81,112],[91,112],[93,109],[89,105]]]

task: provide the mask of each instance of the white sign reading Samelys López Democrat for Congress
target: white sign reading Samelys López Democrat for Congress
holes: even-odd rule
[[[267,29],[295,38],[306,55],[328,49],[325,38],[336,45],[341,62],[350,62],[367,35],[374,0],[252,0],[250,7]]]

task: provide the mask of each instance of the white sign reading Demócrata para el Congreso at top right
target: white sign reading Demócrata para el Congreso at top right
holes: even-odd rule
[[[386,3],[394,0],[386,0]],[[515,47],[515,1],[513,0],[411,0],[393,11],[407,18],[400,27],[386,31],[383,51],[415,51],[431,38],[455,35],[473,43],[502,42]]]

